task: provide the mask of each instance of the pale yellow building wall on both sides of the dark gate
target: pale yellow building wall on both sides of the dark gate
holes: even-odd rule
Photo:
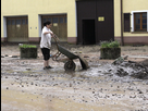
[[[123,0],[123,13],[148,10],[148,0]],[[67,14],[67,41],[76,42],[77,23],[75,0],[1,0],[1,37],[7,37],[5,17],[28,16],[28,38],[40,37],[39,15]],[[4,17],[3,17],[4,16]],[[32,28],[30,28],[32,27]],[[114,0],[114,37],[121,39],[121,0]],[[148,44],[148,33],[123,33],[124,41]],[[136,39],[133,39],[136,38]],[[135,41],[134,41],[135,40]]]

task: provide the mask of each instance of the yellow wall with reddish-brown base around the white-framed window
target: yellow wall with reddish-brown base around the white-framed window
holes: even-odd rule
[[[121,0],[114,0],[114,37],[118,40],[121,40],[121,5],[120,4],[121,4]],[[132,13],[132,11],[148,11],[148,0],[123,0],[123,13]],[[131,27],[132,27],[132,23],[131,23]],[[148,45],[148,32],[144,32],[144,33],[141,32],[134,33],[132,30],[130,33],[123,32],[123,37],[125,44],[144,42]]]

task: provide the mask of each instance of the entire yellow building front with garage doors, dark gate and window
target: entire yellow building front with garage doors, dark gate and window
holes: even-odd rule
[[[148,45],[148,0],[1,0],[1,41],[39,42],[52,22],[61,41]]]

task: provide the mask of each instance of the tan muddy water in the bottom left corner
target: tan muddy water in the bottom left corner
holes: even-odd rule
[[[2,111],[49,111],[52,104],[47,103],[41,96],[1,89]]]

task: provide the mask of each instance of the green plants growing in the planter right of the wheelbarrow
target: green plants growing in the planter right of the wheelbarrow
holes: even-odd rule
[[[101,48],[119,48],[120,42],[119,41],[101,41]]]

